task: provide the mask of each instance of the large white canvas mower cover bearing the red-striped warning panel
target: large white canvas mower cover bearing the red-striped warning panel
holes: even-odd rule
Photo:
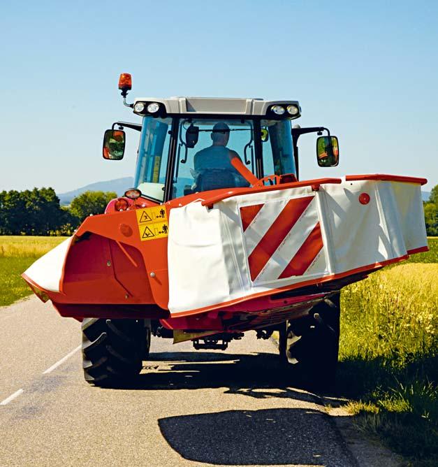
[[[419,182],[357,178],[172,209],[170,312],[336,280],[427,250]]]

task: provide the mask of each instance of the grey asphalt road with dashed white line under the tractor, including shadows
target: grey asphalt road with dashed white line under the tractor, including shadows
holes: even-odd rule
[[[0,343],[1,467],[359,465],[254,332],[226,352],[153,338],[138,384],[119,390],[87,385],[80,324],[36,297],[0,308]]]

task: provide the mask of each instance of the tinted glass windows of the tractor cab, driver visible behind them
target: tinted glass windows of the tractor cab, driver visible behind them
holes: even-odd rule
[[[177,141],[170,145],[172,118],[145,117],[138,148],[136,187],[147,197],[165,201],[211,189],[248,187],[231,161],[240,159],[256,177],[294,173],[289,120],[177,118]],[[173,174],[166,178],[170,147]],[[172,151],[173,152],[173,151]],[[261,167],[263,166],[263,173]]]

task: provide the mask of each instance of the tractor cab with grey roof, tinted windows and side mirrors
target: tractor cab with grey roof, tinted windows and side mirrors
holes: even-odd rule
[[[105,132],[103,157],[122,159],[123,127],[140,131],[134,185],[156,203],[213,189],[272,184],[281,176],[297,181],[298,137],[326,130],[291,128],[301,113],[297,101],[172,97],[127,104],[130,87],[122,82],[119,89],[143,122],[113,124]],[[337,165],[335,137],[319,138],[317,149],[319,163]]]

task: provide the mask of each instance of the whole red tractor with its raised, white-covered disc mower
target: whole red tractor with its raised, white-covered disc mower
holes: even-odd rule
[[[144,98],[142,123],[115,122],[103,157],[140,133],[134,187],[32,264],[23,278],[82,322],[84,372],[117,386],[141,371],[150,336],[224,350],[245,331],[279,331],[285,368],[333,380],[340,289],[428,250],[423,178],[301,180],[298,138],[337,166],[325,127],[292,127],[297,101]],[[326,135],[323,136],[323,133]]]

